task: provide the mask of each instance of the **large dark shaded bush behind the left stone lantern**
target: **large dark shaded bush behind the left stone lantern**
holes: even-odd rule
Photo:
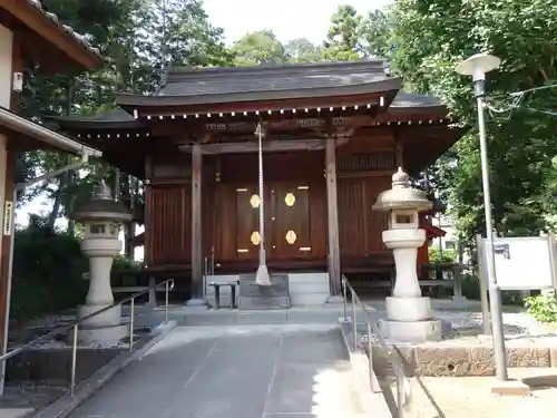
[[[10,318],[29,320],[84,303],[88,261],[79,242],[48,227],[17,231]]]

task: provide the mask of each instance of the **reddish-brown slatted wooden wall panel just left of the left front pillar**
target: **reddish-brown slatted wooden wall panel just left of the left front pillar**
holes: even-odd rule
[[[146,192],[145,262],[186,264],[192,259],[189,184],[149,186]]]

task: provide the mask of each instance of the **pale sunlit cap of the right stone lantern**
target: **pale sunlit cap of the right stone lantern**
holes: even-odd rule
[[[372,208],[374,211],[414,210],[428,211],[433,206],[426,192],[410,186],[410,177],[399,167],[392,175],[392,188],[382,192]]]

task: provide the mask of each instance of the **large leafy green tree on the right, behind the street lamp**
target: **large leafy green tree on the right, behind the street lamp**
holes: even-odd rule
[[[541,0],[397,0],[391,20],[397,45],[394,69],[405,88],[438,96],[455,120],[469,127],[431,175],[444,193],[460,233],[469,243],[483,225],[476,106],[470,79],[455,66],[471,54],[502,58],[488,76],[494,108],[508,107],[508,94],[557,79],[557,4]],[[557,154],[556,119],[525,110],[555,107],[555,89],[527,95],[521,109],[492,113],[488,120],[494,222],[506,235],[537,234],[547,224],[539,198]]]

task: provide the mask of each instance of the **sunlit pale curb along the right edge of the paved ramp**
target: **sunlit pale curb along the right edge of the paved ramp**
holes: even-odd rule
[[[349,337],[352,334],[352,322],[344,321],[342,318],[339,318],[339,322],[342,341],[344,342],[344,347],[346,348],[350,357],[352,375],[364,416],[373,418],[393,418],[393,414],[389,408],[389,404],[382,390],[377,392],[371,390],[368,375],[368,354],[362,347],[354,349],[350,343],[351,339]],[[375,385],[379,387],[379,379],[375,376],[375,372],[373,372],[373,379],[375,379]]]

